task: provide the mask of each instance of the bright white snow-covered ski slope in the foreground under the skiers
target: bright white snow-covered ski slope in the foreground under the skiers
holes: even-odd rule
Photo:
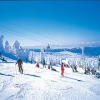
[[[15,63],[0,62],[0,100],[100,100],[100,79],[82,68],[65,68],[61,77],[60,67],[53,67],[57,72],[24,63],[20,74]]]

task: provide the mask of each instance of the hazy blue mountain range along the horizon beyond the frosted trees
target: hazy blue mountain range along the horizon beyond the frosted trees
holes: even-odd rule
[[[62,51],[70,51],[73,53],[82,54],[81,47],[84,47],[84,54],[87,56],[99,56],[100,55],[100,46],[51,46],[50,50],[46,50],[46,46],[36,46],[36,47],[23,47],[23,48],[32,48],[34,51],[41,51],[41,48],[44,48],[45,52],[62,52]]]

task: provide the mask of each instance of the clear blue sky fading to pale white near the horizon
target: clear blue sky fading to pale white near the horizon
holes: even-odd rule
[[[12,45],[100,42],[100,2],[0,1],[0,35]]]

